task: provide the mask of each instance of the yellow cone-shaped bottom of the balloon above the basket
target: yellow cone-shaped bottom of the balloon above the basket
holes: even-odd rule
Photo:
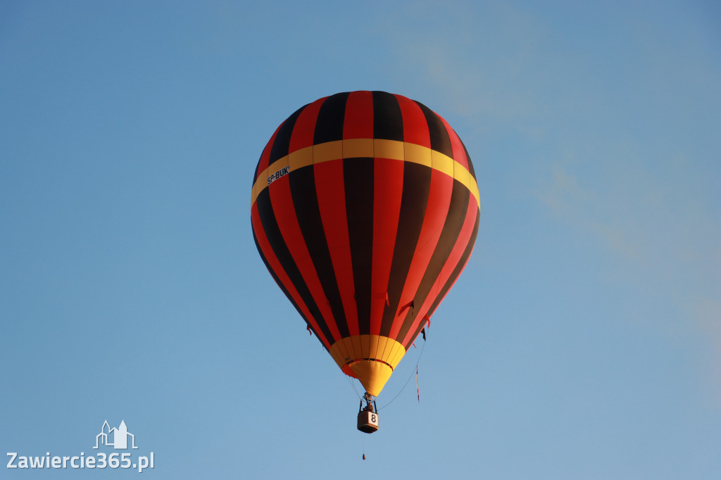
[[[330,355],[346,375],[358,378],[368,394],[378,396],[405,349],[388,337],[355,335],[335,342]]]

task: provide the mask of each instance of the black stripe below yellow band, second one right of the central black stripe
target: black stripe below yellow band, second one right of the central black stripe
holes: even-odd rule
[[[438,237],[438,244],[435,245],[433,255],[431,255],[428,267],[423,274],[423,280],[420,281],[420,285],[418,285],[418,290],[415,294],[414,304],[418,308],[425,303],[430,289],[433,288],[433,284],[438,280],[438,275],[441,274],[443,265],[446,265],[446,261],[451,255],[456,241],[458,241],[458,235],[461,233],[464,220],[466,219],[470,195],[471,192],[469,192],[461,182],[457,180],[454,181],[453,191],[451,192],[451,203],[448,205],[448,214],[446,215],[446,221],[443,223],[441,236]],[[412,313],[414,312],[409,309],[398,334],[399,339],[405,338],[408,330],[413,325],[415,314]]]

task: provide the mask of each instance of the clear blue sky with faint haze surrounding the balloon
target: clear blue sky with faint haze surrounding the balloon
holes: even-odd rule
[[[163,479],[717,478],[720,25],[709,1],[3,2],[0,450],[94,455],[107,419]],[[482,208],[373,435],[249,221],[277,125],[356,89],[445,117]]]

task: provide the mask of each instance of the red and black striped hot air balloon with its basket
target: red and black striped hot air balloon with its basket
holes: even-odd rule
[[[263,149],[255,244],[307,329],[366,389],[359,430],[378,429],[374,398],[468,262],[479,213],[461,139],[401,95],[318,99]]]

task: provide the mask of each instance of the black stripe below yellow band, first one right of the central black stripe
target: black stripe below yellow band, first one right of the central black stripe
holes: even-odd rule
[[[389,306],[383,312],[381,335],[388,337],[401,302],[401,293],[420,237],[430,192],[431,169],[407,161],[403,166],[403,193],[398,218],[398,234],[393,247],[391,273],[388,280]],[[404,298],[409,302],[410,298]]]

